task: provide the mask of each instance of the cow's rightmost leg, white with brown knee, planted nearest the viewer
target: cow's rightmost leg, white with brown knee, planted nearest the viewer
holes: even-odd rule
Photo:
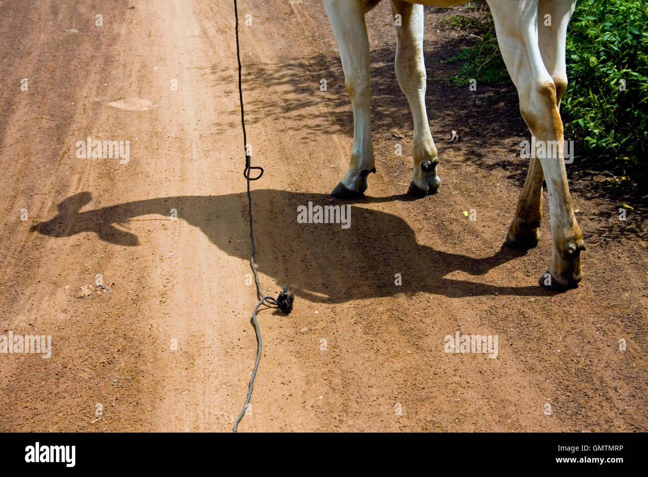
[[[503,60],[518,90],[520,112],[531,136],[544,145],[546,152],[540,157],[540,164],[549,193],[553,246],[548,273],[540,276],[539,282],[551,289],[573,287],[583,278],[583,234],[573,214],[567,183],[557,87],[542,61],[538,45],[538,28],[542,28],[542,23],[537,24],[538,1],[489,0],[489,5]],[[561,41],[560,36],[557,38]],[[557,48],[564,49],[562,38],[562,45]],[[539,182],[539,171],[530,174],[531,182]],[[529,190],[532,188],[533,184],[529,184]],[[528,200],[526,196],[525,200]]]

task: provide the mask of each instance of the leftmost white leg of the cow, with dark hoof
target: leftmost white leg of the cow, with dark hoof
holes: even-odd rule
[[[367,175],[376,172],[371,143],[369,39],[364,19],[364,0],[324,0],[324,6],[340,50],[344,85],[353,106],[351,164],[332,195],[354,199],[367,190]]]

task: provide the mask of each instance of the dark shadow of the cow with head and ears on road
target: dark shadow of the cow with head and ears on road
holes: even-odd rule
[[[297,223],[297,206],[308,202],[340,205],[319,193],[254,190],[253,214],[255,262],[260,273],[292,287],[295,295],[312,302],[341,303],[424,291],[445,297],[479,295],[547,295],[538,286],[497,286],[483,280],[445,278],[454,271],[481,276],[525,252],[502,247],[487,258],[473,258],[436,250],[418,243],[408,223],[396,215],[351,206],[351,225]],[[125,202],[81,212],[91,202],[89,192],[68,197],[58,204],[51,220],[32,226],[45,236],[69,237],[93,232],[103,241],[135,247],[132,232],[141,216],[160,215],[196,226],[222,251],[249,259],[248,199],[246,193],[227,195],[159,197]],[[365,203],[395,198],[367,198]],[[130,228],[130,230],[129,230]],[[162,232],[165,233],[165,232]],[[402,276],[397,286],[395,276]]]

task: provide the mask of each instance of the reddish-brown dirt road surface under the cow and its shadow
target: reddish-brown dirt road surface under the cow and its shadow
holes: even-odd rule
[[[389,4],[367,15],[378,173],[344,230],[296,221],[298,205],[335,203],[351,150],[323,6],[240,0],[248,138],[266,171],[253,182],[260,278],[296,295],[288,316],[259,313],[240,430],[648,430],[645,228],[585,177],[572,184],[581,286],[537,286],[548,221],[537,248],[500,250],[527,132],[510,86],[448,82],[457,65],[439,61],[470,41],[441,27],[457,11],[426,9],[443,182],[417,201]],[[0,333],[52,337],[49,359],[0,354],[0,430],[231,430],[257,302],[231,1],[7,0],[0,17]],[[109,105],[120,99],[151,107]],[[130,162],[76,158],[87,136],[130,141]],[[457,330],[497,335],[497,358],[446,354]]]

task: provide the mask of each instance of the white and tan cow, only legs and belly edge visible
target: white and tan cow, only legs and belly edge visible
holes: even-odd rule
[[[369,40],[364,16],[380,0],[323,2],[340,50],[354,123],[351,164],[332,195],[340,199],[356,199],[367,190],[369,173],[376,171],[369,109]],[[391,0],[393,16],[399,19],[394,21],[397,25],[396,77],[410,104],[414,124],[414,171],[408,193],[415,197],[435,193],[441,183],[437,175],[437,149],[425,106],[423,6],[448,7],[463,3],[465,1],[460,0]],[[572,288],[583,279],[581,251],[585,247],[583,234],[573,214],[567,183],[559,108],[567,88],[565,42],[575,0],[487,0],[487,3],[491,8],[502,58],[518,91],[520,112],[532,138],[535,138],[531,147],[550,141],[558,144],[557,154],[531,154],[526,181],[505,245],[522,249],[537,245],[542,219],[542,182],[546,180],[553,249],[548,271],[538,281],[541,286],[553,290]],[[547,15],[550,15],[550,26],[545,25]]]

